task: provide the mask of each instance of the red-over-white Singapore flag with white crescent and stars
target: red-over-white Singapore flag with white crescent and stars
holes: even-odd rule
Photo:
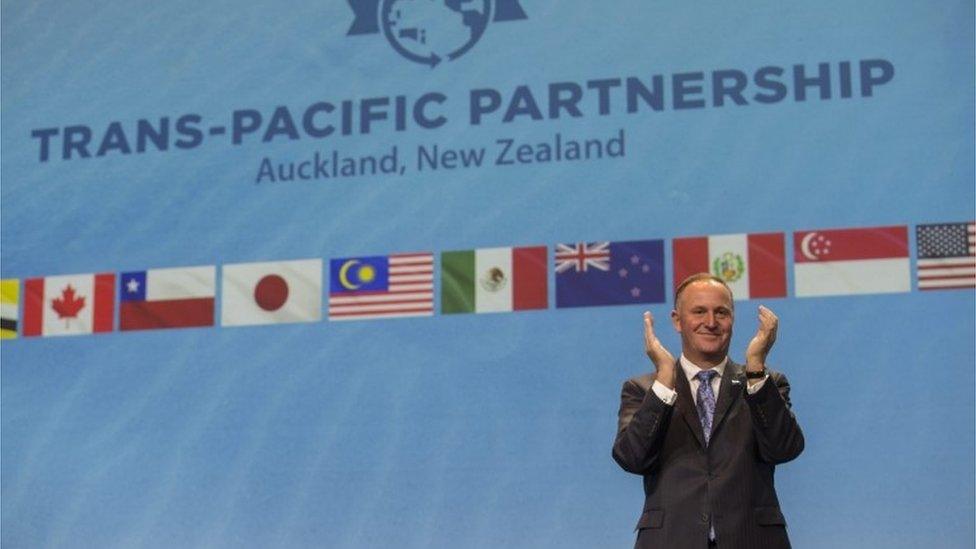
[[[908,227],[793,233],[797,297],[907,292]]]

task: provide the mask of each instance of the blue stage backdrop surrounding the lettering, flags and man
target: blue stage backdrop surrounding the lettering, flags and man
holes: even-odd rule
[[[670,298],[557,310],[555,243],[663,238],[670,290],[676,237],[785,232],[792,265],[793,231],[907,225],[914,266],[915,225],[976,216],[970,1],[520,5],[524,19],[493,21],[431,68],[382,31],[348,36],[345,2],[2,3],[5,279],[550,249],[541,311],[4,340],[5,547],[627,547],[643,494],[610,458],[619,390],[650,368],[641,313],[666,318]],[[872,60],[894,73],[866,96],[859,63]],[[811,86],[798,100],[794,66],[819,63],[830,96]],[[762,103],[767,66],[787,93]],[[720,70],[747,76],[747,105],[716,104]],[[703,105],[676,108],[674,75],[698,72],[689,85],[703,91],[687,97]],[[601,114],[587,87],[654,75],[659,111],[627,112],[617,87]],[[549,117],[559,82],[580,86],[580,116]],[[542,119],[503,122],[523,85]],[[472,124],[484,89],[502,106]],[[408,112],[396,131],[393,98],[428,93],[446,122]],[[390,98],[391,113],[368,134],[302,131],[309,106],[334,103],[316,124],[338,125],[342,101],[366,98]],[[263,142],[279,106],[300,136]],[[235,145],[245,110],[263,123]],[[180,148],[175,124],[191,114],[226,133]],[[161,117],[167,150],[137,153],[137,121]],[[113,122],[132,151],[98,156]],[[76,125],[93,133],[91,157],[65,159]],[[46,128],[59,133],[41,160],[32,132]],[[499,139],[620,132],[619,157],[491,162]],[[418,170],[433,145],[489,158]],[[402,175],[257,182],[265,158],[393,147]],[[972,547],[974,292],[798,299],[787,277],[789,297],[738,303],[732,355],[757,305],[777,312],[771,362],[807,439],[777,469],[794,545]]]

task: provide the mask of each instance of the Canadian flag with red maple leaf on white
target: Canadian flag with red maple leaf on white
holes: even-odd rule
[[[111,332],[115,274],[79,274],[24,281],[24,336]]]

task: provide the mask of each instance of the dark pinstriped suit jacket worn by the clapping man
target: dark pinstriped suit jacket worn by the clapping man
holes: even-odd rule
[[[770,370],[749,395],[745,369],[729,361],[705,446],[688,379],[677,368],[674,405],[651,390],[653,374],[624,382],[620,397],[613,458],[644,477],[635,547],[704,548],[710,525],[720,549],[790,547],[773,472],[800,455],[804,442],[786,376]]]

